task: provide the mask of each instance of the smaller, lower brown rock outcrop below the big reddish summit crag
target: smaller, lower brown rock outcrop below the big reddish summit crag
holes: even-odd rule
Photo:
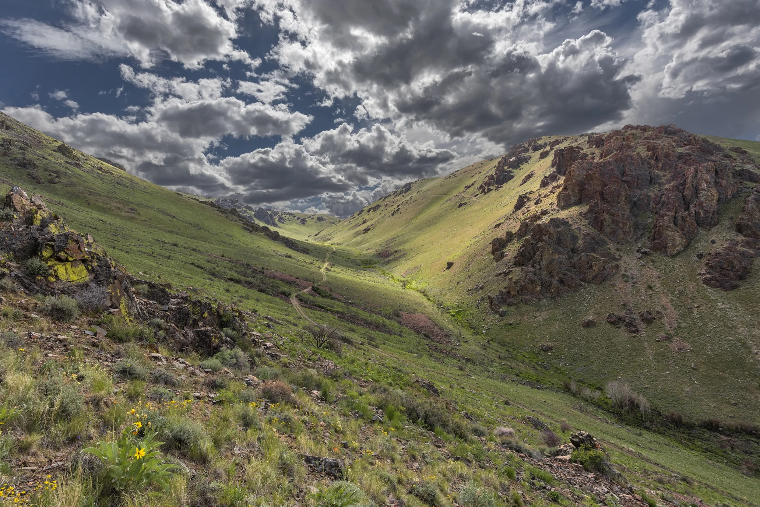
[[[523,229],[529,232],[514,258],[515,266],[522,268],[520,277],[508,277],[505,289],[490,298],[494,309],[562,296],[583,283],[599,284],[618,270],[615,255],[593,230],[579,233],[561,218],[524,221]]]

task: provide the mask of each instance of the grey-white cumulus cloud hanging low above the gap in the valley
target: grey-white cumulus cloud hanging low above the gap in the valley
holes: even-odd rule
[[[351,125],[343,124],[303,138],[301,144],[286,140],[271,148],[227,157],[219,167],[228,175],[231,189],[251,204],[321,195],[331,213],[344,216],[372,202],[366,201],[370,195],[382,196],[359,192],[347,201],[345,196],[353,195],[353,189],[394,189],[410,179],[435,174],[442,163],[455,157],[451,151],[435,149],[432,143],[411,142],[382,125],[353,132]],[[351,211],[346,213],[348,209]]]

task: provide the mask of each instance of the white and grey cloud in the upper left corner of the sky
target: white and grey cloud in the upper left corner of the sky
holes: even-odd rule
[[[234,13],[246,2],[218,2]],[[33,19],[0,21],[8,35],[59,59],[131,57],[151,67],[168,57],[187,68],[206,60],[258,61],[233,45],[237,25],[205,0],[70,0],[71,21],[53,26]]]

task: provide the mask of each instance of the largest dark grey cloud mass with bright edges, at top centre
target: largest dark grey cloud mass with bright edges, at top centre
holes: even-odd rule
[[[340,3],[337,8],[336,3]],[[391,5],[392,4],[392,5]],[[264,2],[289,37],[272,55],[330,97],[356,94],[357,119],[426,125],[511,144],[622,118],[637,78],[599,30],[544,49],[554,2],[496,9],[453,0]]]

